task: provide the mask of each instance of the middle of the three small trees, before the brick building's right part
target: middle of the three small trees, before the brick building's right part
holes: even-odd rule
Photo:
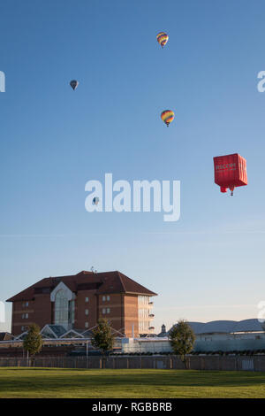
[[[114,343],[114,335],[111,333],[108,320],[98,320],[97,327],[93,330],[91,343],[102,352],[103,365],[105,365],[105,354],[107,351],[113,350]]]

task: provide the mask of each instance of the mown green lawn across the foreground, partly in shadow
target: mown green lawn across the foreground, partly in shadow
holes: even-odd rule
[[[2,367],[0,397],[265,397],[265,373]]]

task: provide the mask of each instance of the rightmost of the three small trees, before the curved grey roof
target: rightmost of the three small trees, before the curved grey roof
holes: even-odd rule
[[[195,342],[193,329],[185,320],[179,320],[178,324],[170,329],[169,339],[172,350],[180,356],[186,368],[186,354],[193,351]]]

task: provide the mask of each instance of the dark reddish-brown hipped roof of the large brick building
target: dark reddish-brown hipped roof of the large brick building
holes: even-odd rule
[[[34,285],[29,286],[27,289],[22,290],[14,297],[10,297],[6,302],[31,300],[35,295],[50,294],[60,281],[63,281],[72,292],[95,290],[95,293],[98,295],[126,293],[145,295],[148,297],[156,296],[155,292],[152,292],[140,285],[140,283],[137,283],[137,281],[133,281],[133,279],[118,271],[103,273],[82,271],[68,276],[46,277],[41,281],[37,281]]]

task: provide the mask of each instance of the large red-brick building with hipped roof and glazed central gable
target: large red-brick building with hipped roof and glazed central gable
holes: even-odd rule
[[[154,296],[117,271],[44,278],[7,300],[12,302],[11,333],[19,335],[31,323],[86,329],[106,318],[126,336],[150,334]]]

